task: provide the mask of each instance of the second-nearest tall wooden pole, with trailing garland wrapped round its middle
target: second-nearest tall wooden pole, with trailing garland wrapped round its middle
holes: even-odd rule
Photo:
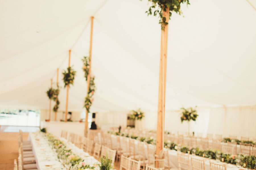
[[[92,31],[93,31],[93,19],[94,17],[91,16],[91,33],[90,33],[90,51],[89,51],[89,74],[87,75],[87,92],[89,91],[90,88],[90,79],[91,79],[91,68],[92,68]],[[88,135],[88,111],[86,109],[86,114],[85,114],[85,123],[84,123],[84,136],[87,137]]]

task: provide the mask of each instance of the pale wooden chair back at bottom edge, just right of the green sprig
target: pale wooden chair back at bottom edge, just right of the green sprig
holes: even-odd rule
[[[141,162],[121,155],[120,170],[140,170]]]

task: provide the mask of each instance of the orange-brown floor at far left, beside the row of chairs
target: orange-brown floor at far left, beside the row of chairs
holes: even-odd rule
[[[23,133],[23,140],[27,138],[28,133]],[[18,159],[18,133],[0,132],[0,150],[0,169],[13,170],[14,160]]]

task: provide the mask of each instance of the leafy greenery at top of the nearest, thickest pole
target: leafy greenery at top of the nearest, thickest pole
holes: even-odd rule
[[[166,22],[166,18],[163,16],[163,11],[166,11],[169,8],[169,19],[171,19],[172,12],[176,12],[181,15],[182,11],[180,9],[181,4],[190,5],[189,0],[148,0],[152,5],[149,7],[146,13],[148,15],[158,16],[160,18],[159,24],[161,24],[162,30],[164,30],[165,26],[168,24]]]

